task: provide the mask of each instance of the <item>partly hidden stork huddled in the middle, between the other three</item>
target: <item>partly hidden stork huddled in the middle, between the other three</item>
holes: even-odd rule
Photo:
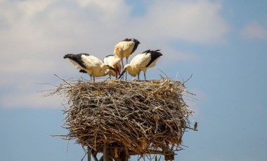
[[[118,73],[121,72],[122,65],[120,64],[121,59],[119,57],[115,57],[114,55],[108,55],[104,58],[104,64],[108,64],[109,66],[112,66],[115,68],[115,71],[108,70],[108,74],[112,76],[118,76]]]

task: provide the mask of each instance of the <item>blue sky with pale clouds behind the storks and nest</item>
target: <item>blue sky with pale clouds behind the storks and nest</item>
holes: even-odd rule
[[[61,83],[54,74],[89,79],[65,54],[103,59],[124,38],[141,42],[133,56],[161,50],[148,79],[193,74],[199,130],[175,160],[266,160],[265,0],[0,0],[0,160],[81,160],[81,146],[51,137],[67,134],[64,98],[41,91]]]

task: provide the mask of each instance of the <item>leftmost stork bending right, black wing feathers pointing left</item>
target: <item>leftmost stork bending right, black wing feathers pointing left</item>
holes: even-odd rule
[[[91,76],[91,80],[92,76],[93,80],[95,80],[95,77],[106,76],[108,74],[108,69],[115,70],[112,66],[103,64],[100,59],[87,53],[76,55],[67,54],[64,56],[64,59],[66,58],[70,59],[70,62],[72,62],[77,69],[80,69],[80,72],[88,73]]]

